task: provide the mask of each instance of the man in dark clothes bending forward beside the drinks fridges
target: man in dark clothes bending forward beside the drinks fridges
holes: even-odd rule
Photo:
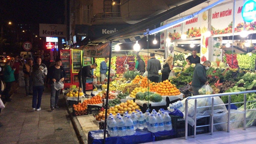
[[[93,63],[92,65],[88,65],[82,68],[82,72],[81,70],[78,73],[78,79],[79,79],[79,85],[81,85],[81,76],[82,76],[82,88],[83,88],[83,92],[84,95],[87,95],[85,92],[85,84],[86,84],[86,78],[97,78],[96,76],[93,76],[91,74],[92,69],[97,68],[97,63]]]

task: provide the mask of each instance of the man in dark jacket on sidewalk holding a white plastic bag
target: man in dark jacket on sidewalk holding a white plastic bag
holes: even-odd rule
[[[60,90],[56,90],[54,88],[54,82],[63,82],[66,78],[66,71],[61,66],[60,58],[56,58],[55,65],[50,67],[48,76],[51,84],[51,110],[54,110],[54,108],[60,108],[57,106],[60,96]]]

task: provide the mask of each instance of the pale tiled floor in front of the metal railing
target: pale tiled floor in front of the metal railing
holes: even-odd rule
[[[185,140],[184,137],[182,137],[182,138],[176,138],[176,139],[147,142],[144,144],[170,144],[170,143],[256,144],[256,126],[249,127],[245,131],[242,128],[240,128],[240,129],[231,130],[229,133],[225,131],[219,131],[219,132],[213,132],[213,135],[210,135],[210,133],[199,134],[199,135],[196,135],[196,138],[193,138],[193,136],[189,136],[188,140]]]

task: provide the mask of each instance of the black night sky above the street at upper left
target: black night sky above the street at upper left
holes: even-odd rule
[[[0,0],[1,23],[64,24],[65,0]]]

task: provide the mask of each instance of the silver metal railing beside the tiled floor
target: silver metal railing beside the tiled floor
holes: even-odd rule
[[[186,99],[186,101],[185,101],[185,139],[186,140],[188,139],[188,100],[195,99],[194,138],[196,138],[196,127],[211,126],[211,135],[213,135],[213,125],[228,123],[228,131],[227,132],[229,132],[229,129],[230,129],[230,105],[231,104],[237,104],[237,103],[244,103],[244,120],[240,120],[240,121],[244,121],[244,130],[246,130],[246,120],[251,120],[251,119],[246,119],[246,102],[252,102],[252,101],[246,101],[246,93],[254,93],[254,92],[256,92],[256,90],[244,91],[244,92],[227,92],[227,93],[211,94],[211,95],[207,94],[207,95],[188,97]],[[244,102],[231,103],[231,95],[232,96],[236,96],[237,94],[244,94]],[[228,122],[213,124],[213,116],[214,116],[214,114],[213,114],[213,107],[221,106],[221,105],[214,105],[214,97],[219,97],[219,96],[228,96],[228,104],[221,104],[221,105],[228,105]],[[197,99],[201,99],[201,98],[212,98],[212,105],[211,106],[204,106],[204,107],[197,107]],[[254,100],[254,101],[256,101],[256,100]],[[196,117],[196,110],[197,110],[197,108],[206,108],[206,107],[211,107],[211,115],[210,115],[210,117],[211,117],[211,124],[196,126],[196,118],[208,117],[208,116],[198,116],[198,117]],[[256,119],[256,118],[252,118],[252,119]],[[233,122],[237,122],[237,121],[233,121]]]

